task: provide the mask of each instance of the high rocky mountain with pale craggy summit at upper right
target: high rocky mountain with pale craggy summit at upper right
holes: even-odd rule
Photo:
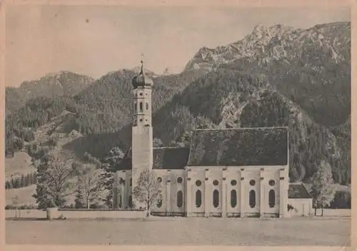
[[[217,67],[264,76],[325,126],[338,126],[351,114],[349,22],[311,29],[256,26],[240,41],[201,48],[185,69]]]

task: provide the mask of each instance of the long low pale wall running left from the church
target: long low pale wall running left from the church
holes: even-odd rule
[[[97,218],[118,218],[118,219],[138,219],[146,217],[145,210],[5,210],[6,218],[31,218],[45,219],[51,217],[55,219],[63,215],[67,219],[97,219]]]

